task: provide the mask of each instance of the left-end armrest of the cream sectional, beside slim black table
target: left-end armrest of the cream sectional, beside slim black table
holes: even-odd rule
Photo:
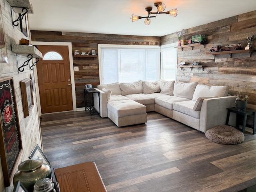
[[[96,90],[100,92],[100,98],[98,97],[98,93],[94,93],[94,108],[97,111],[99,111],[99,106],[100,106],[100,116],[108,117],[108,108],[107,108],[108,100],[107,100],[106,94],[100,89],[96,89]]]

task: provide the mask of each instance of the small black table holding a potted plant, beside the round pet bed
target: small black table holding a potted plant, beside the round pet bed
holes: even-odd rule
[[[253,122],[253,127],[252,127],[253,128],[253,134],[256,133],[256,113],[255,113],[256,110],[255,109],[246,108],[246,110],[238,110],[235,107],[231,107],[231,108],[227,108],[227,110],[228,110],[228,114],[227,114],[227,119],[226,119],[226,125],[228,125],[228,122],[229,122],[230,112],[238,114],[238,115],[242,115],[242,116],[244,116],[242,132],[244,133],[245,126],[246,126],[247,116],[248,115],[253,115],[254,116],[254,122]],[[239,120],[238,120],[238,118],[236,118],[236,127],[237,128],[239,127]]]

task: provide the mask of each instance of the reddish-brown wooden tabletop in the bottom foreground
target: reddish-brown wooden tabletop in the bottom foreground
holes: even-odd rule
[[[61,192],[106,192],[94,162],[54,170]]]

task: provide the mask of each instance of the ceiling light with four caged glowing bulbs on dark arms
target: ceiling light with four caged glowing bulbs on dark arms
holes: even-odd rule
[[[168,14],[168,15],[173,16],[173,17],[176,17],[177,14],[178,14],[178,10],[176,8],[172,9],[170,11],[163,12],[165,10],[165,4],[163,4],[162,2],[154,3],[154,6],[156,6],[156,8],[157,8],[157,12],[151,12],[152,7],[146,7],[145,10],[148,12],[147,17],[141,17],[141,16],[138,16],[138,15],[132,14],[131,21],[134,22],[134,21],[138,21],[139,19],[146,18],[144,23],[146,25],[149,25],[150,22],[151,22],[150,18],[156,17],[158,14],[165,13],[165,14]],[[154,14],[154,16],[152,16],[152,14]]]

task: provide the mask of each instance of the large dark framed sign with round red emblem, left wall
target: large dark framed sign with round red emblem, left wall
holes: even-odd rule
[[[10,176],[20,158],[22,142],[13,78],[0,80],[0,156],[4,186],[10,186]]]

